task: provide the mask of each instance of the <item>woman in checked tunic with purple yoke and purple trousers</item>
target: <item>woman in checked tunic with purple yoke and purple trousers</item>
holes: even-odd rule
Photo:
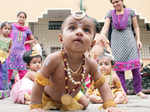
[[[141,87],[139,50],[142,48],[142,44],[135,12],[132,9],[125,8],[123,0],[110,0],[110,2],[114,10],[107,14],[100,38],[106,38],[109,28],[112,28],[111,49],[115,61],[114,70],[119,76],[125,92],[127,92],[125,71],[131,70],[135,93],[142,98],[146,98],[147,96],[142,93]]]

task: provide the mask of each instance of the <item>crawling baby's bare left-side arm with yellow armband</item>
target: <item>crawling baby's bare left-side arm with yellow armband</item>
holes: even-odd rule
[[[31,109],[42,108],[42,94],[44,91],[44,86],[52,86],[50,82],[50,75],[54,72],[56,68],[56,59],[55,55],[49,55],[39,72],[36,74],[35,85],[32,89],[31,95]],[[53,66],[51,66],[53,65]]]

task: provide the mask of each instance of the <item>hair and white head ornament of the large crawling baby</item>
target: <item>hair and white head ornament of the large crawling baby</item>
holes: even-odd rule
[[[85,18],[85,17],[87,17],[87,18],[89,18],[89,19],[91,19],[92,21],[93,21],[93,23],[94,23],[94,37],[93,37],[93,39],[95,38],[95,34],[98,32],[98,27],[97,27],[97,25],[98,25],[98,22],[97,22],[97,20],[95,19],[95,18],[92,18],[92,17],[90,17],[90,16],[88,16],[85,12],[83,12],[83,11],[79,11],[79,12],[73,12],[71,15],[69,15],[68,17],[66,17],[66,19],[64,20],[64,22],[62,23],[62,25],[61,25],[61,31],[63,31],[63,28],[64,28],[64,24],[66,23],[66,21],[67,21],[67,19],[69,18],[69,17],[71,17],[71,16],[77,16],[78,17],[78,15],[79,16],[81,16],[81,18]],[[79,17],[80,18],[80,17]]]

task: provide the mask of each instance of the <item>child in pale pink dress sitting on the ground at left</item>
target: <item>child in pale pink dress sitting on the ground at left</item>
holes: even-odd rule
[[[28,71],[21,80],[13,85],[10,96],[15,103],[30,104],[35,73],[41,68],[42,57],[37,51],[30,50],[24,53],[23,60]]]

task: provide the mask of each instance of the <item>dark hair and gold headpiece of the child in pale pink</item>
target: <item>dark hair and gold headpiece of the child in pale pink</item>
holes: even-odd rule
[[[26,51],[23,55],[23,61],[27,63],[27,65],[29,66],[31,60],[35,57],[40,57],[42,60],[42,56],[37,51],[34,50]]]

